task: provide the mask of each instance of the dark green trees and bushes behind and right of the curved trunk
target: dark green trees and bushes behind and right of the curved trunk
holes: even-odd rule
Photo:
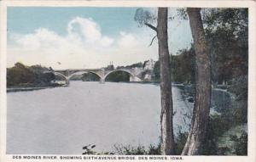
[[[217,99],[218,103],[215,106],[221,115],[211,117],[202,153],[206,155],[229,154],[232,148],[218,148],[218,137],[233,126],[247,123],[247,8],[207,8],[203,10],[202,15],[211,54],[212,81],[216,82],[216,85],[228,83],[228,91],[235,95],[235,100],[227,98],[228,102],[220,102]],[[174,56],[172,58],[174,58],[172,61],[175,60]],[[182,65],[177,60],[172,63],[172,66],[177,64],[179,68]],[[183,68],[180,68],[179,72],[176,71],[178,69],[172,68],[172,70],[173,81],[184,83],[184,79],[189,78],[188,75],[184,75],[186,73],[183,73]],[[175,78],[175,72],[177,72],[176,76],[183,73],[181,75],[183,78]],[[213,97],[222,98],[223,95],[213,92]],[[243,137],[238,140],[237,137],[236,141],[236,153],[231,154],[247,153],[247,144],[245,144],[247,138]]]

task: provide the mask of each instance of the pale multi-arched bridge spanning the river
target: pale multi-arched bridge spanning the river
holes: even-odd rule
[[[93,73],[100,78],[100,82],[104,83],[108,75],[116,71],[124,71],[130,75],[130,81],[142,81],[141,75],[144,71],[143,68],[131,68],[131,69],[116,69],[116,70],[108,70],[108,69],[70,69],[70,70],[53,70],[48,71],[52,72],[55,75],[61,75],[65,80],[66,84],[69,84],[70,79],[74,75],[83,75],[88,73]]]

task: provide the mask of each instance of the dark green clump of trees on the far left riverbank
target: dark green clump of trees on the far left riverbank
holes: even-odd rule
[[[44,73],[51,68],[41,65],[26,66],[16,63],[14,67],[7,69],[7,87],[48,87],[50,81],[55,79],[53,73]]]

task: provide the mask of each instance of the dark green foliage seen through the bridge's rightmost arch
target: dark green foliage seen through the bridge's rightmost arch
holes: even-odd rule
[[[130,74],[125,71],[114,71],[111,74],[109,74],[106,78],[106,81],[112,81],[112,82],[129,82],[130,81]]]

